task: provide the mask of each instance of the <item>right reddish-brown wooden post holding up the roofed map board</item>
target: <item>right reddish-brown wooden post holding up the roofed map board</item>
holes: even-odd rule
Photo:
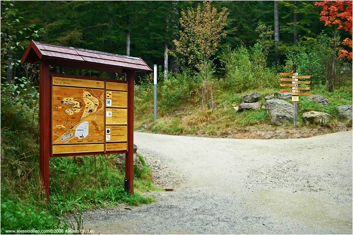
[[[125,190],[133,193],[133,116],[134,116],[134,71],[127,71],[127,153],[125,158]]]

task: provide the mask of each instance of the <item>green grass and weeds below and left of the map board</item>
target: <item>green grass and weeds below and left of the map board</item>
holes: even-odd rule
[[[141,196],[146,190],[156,189],[142,156],[142,165],[134,165],[135,192],[125,192],[125,157],[119,155],[50,158],[50,198],[46,199],[39,173],[37,109],[3,104],[1,234],[6,230],[58,228],[65,232],[72,229],[70,223],[65,223],[67,213],[154,200]]]

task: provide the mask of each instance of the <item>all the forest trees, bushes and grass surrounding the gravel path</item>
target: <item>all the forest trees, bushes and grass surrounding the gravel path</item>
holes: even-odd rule
[[[324,107],[301,96],[299,114],[315,110],[332,117],[324,127],[299,118],[299,137],[352,128],[352,120],[340,118],[337,108],[352,105],[352,1],[3,0],[1,234],[73,228],[68,222],[63,227],[64,213],[150,203],[153,199],[140,192],[155,189],[146,164],[136,168],[137,190],[130,196],[115,156],[55,158],[50,160],[51,196],[44,198],[38,169],[38,65],[20,63],[30,40],[141,57],[150,68],[156,64],[157,121],[153,74],[136,73],[138,131],[234,138],[252,130],[292,128],[273,127],[264,109],[236,112],[233,106],[247,93],[258,92],[262,100],[277,93],[278,73],[292,72],[293,65],[311,76],[312,94],[329,100]],[[76,222],[79,227],[82,221],[77,217]]]

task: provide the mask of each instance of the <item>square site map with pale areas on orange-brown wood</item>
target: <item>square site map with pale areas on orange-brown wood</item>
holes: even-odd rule
[[[104,90],[52,87],[53,144],[103,143]]]

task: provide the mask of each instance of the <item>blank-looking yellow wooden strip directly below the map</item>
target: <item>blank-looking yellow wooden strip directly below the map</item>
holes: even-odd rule
[[[103,152],[104,144],[65,144],[53,145],[53,154]]]

